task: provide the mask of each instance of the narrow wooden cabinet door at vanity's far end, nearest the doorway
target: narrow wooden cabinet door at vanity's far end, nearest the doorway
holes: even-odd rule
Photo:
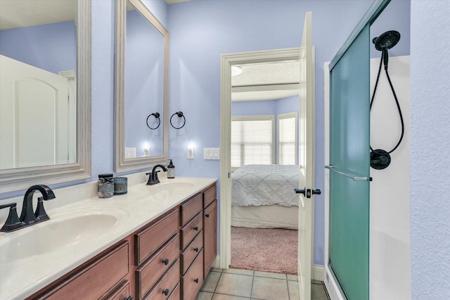
[[[217,200],[203,211],[203,277],[210,272],[212,263],[217,256]]]

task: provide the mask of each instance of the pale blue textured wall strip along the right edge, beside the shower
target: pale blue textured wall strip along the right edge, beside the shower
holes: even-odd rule
[[[450,1],[411,1],[411,288],[450,299]]]

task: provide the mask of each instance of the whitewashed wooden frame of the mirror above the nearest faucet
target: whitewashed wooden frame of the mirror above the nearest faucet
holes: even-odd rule
[[[0,192],[91,177],[91,1],[77,1],[77,162],[0,170]],[[37,144],[36,146],[45,146]]]

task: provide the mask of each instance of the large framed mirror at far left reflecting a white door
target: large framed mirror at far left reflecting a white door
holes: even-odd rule
[[[0,1],[0,192],[91,177],[91,1]]]

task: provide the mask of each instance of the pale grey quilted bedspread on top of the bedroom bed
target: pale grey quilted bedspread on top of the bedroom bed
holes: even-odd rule
[[[232,206],[298,206],[298,165],[244,165],[231,175]]]

